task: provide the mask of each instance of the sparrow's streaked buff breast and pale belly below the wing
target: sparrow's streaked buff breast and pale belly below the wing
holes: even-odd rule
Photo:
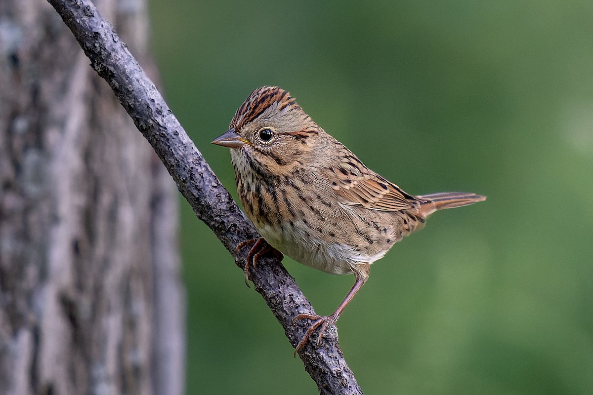
[[[271,246],[295,261],[349,274],[353,265],[377,261],[401,239],[387,214],[343,206],[315,176],[257,174],[248,158],[232,151],[247,217]]]

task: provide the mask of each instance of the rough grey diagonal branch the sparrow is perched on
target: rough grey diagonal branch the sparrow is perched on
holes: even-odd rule
[[[111,86],[138,130],[152,144],[196,216],[212,229],[243,268],[246,251],[235,255],[234,249],[241,241],[258,237],[255,228],[222,187],[125,43],[91,1],[48,1],[74,33],[91,60],[91,67]],[[313,308],[279,261],[262,258],[259,263],[253,274],[255,288],[294,347],[308,323],[293,324],[291,320],[300,313],[313,313]],[[343,358],[335,330],[327,330],[320,345],[308,342],[299,355],[320,393],[362,394]]]

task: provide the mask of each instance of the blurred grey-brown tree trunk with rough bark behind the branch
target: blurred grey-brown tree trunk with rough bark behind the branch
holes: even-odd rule
[[[143,65],[142,0],[101,0]],[[0,1],[0,394],[184,390],[177,192],[40,0]]]

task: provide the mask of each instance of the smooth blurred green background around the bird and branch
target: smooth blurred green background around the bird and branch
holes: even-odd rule
[[[369,394],[593,393],[593,3],[152,0],[168,104],[210,144],[262,85],[289,90],[407,192],[478,192],[372,267],[338,323]],[[181,201],[188,394],[317,388]],[[315,310],[353,283],[285,259]]]

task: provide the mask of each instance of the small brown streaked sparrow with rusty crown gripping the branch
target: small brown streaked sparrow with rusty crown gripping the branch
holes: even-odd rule
[[[254,244],[246,280],[251,262],[267,251],[356,279],[330,316],[294,317],[313,320],[295,354],[318,326],[321,339],[367,280],[372,262],[420,229],[429,214],[486,199],[464,192],[407,194],[366,168],[276,87],[253,91],[213,143],[231,149],[241,203],[263,236],[238,246]]]

